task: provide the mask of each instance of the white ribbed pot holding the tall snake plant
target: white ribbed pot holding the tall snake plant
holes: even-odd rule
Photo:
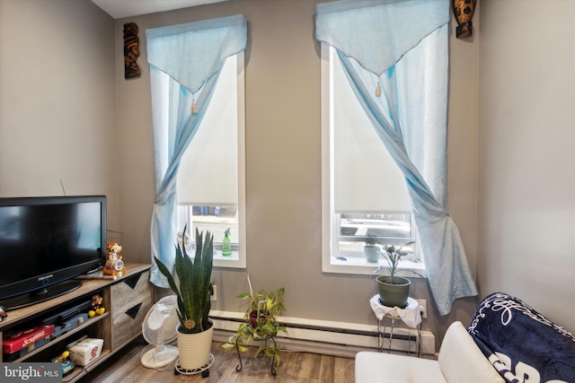
[[[197,334],[183,334],[180,332],[181,325],[178,325],[178,352],[182,369],[199,370],[208,364],[214,335],[214,321],[208,320],[212,326]]]

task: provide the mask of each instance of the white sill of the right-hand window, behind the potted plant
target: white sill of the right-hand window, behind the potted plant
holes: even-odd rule
[[[387,272],[385,259],[378,263],[368,263],[364,257],[330,257],[329,263],[323,262],[323,273],[385,275]],[[380,270],[376,270],[381,266]],[[427,278],[425,265],[421,261],[402,260],[398,265],[397,275],[409,278]]]

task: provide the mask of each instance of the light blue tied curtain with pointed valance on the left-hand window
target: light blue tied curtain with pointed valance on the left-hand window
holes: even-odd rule
[[[181,156],[208,109],[222,61],[243,51],[246,42],[243,15],[146,30],[155,161],[150,280],[157,286],[169,287],[154,257],[173,267]]]

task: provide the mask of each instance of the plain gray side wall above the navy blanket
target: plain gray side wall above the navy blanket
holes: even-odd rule
[[[575,2],[483,1],[482,294],[526,300],[575,331]]]

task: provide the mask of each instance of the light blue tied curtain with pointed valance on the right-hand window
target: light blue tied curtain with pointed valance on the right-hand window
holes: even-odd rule
[[[477,295],[447,213],[448,22],[448,0],[342,1],[318,4],[316,13],[317,39],[338,49],[351,88],[403,171],[441,315],[457,298]]]

